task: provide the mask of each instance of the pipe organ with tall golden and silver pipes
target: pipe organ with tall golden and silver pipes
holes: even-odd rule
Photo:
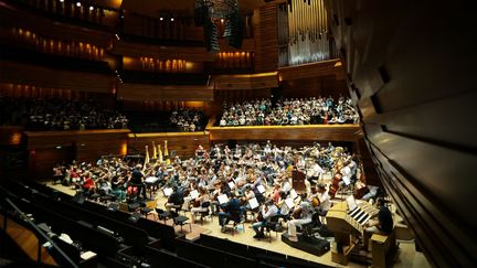
[[[336,57],[324,0],[288,0],[278,6],[279,66]]]

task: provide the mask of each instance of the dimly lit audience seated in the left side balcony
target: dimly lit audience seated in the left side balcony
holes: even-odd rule
[[[64,99],[0,98],[1,125],[28,130],[85,130],[127,128],[128,119],[98,103]]]

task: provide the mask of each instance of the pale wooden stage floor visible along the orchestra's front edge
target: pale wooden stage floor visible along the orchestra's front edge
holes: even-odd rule
[[[52,183],[47,183],[49,186],[74,195],[75,191],[63,186],[61,184],[56,184],[53,185]],[[165,196],[162,196],[162,194],[158,194],[157,197],[157,207],[159,208],[165,208],[165,204],[167,199]],[[191,217],[189,212],[186,212],[186,216],[188,216],[189,218]],[[151,221],[156,221],[155,216],[149,216],[148,217]],[[290,246],[288,246],[287,244],[282,242],[280,238],[280,234],[278,234],[277,237],[275,237],[275,233],[272,233],[272,243],[268,242],[268,239],[263,239],[263,240],[257,240],[254,239],[254,231],[252,229],[252,226],[250,223],[245,223],[245,227],[244,229],[240,229],[239,233],[234,233],[234,235],[232,236],[231,233],[221,233],[220,226],[219,226],[219,221],[218,217],[213,217],[212,218],[213,222],[211,222],[211,219],[208,217],[204,219],[203,225],[200,225],[200,222],[198,221],[194,225],[192,225],[192,233],[189,232],[189,225],[184,225],[183,226],[183,233],[187,235],[188,239],[195,239],[200,236],[201,233],[203,234],[208,234],[208,235],[212,235],[215,237],[220,237],[220,238],[224,238],[224,239],[230,239],[233,240],[235,243],[241,243],[241,244],[245,244],[245,245],[252,245],[255,247],[261,247],[261,248],[266,248],[267,250],[272,250],[272,251],[277,251],[280,254],[285,254],[285,255],[289,255],[289,256],[294,256],[297,258],[301,258],[301,259],[307,259],[309,261],[315,261],[318,264],[325,264],[328,266],[332,266],[332,267],[343,267],[342,265],[339,265],[337,262],[331,261],[331,251],[326,253],[322,256],[315,256],[308,253],[305,253],[303,250],[293,248]],[[169,223],[171,224],[171,223]],[[180,231],[179,226],[176,226],[177,232]],[[350,261],[348,264],[348,266],[346,267],[367,267],[364,265],[361,264],[356,264]],[[427,260],[425,259],[424,255],[422,253],[417,253],[415,251],[415,246],[414,246],[414,242],[400,242],[399,243],[399,250],[398,254],[395,256],[394,259],[394,265],[393,267],[398,267],[398,268],[410,268],[410,267],[415,267],[415,268],[427,268],[431,267],[427,262]]]

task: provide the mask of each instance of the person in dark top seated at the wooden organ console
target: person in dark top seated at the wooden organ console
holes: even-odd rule
[[[394,227],[391,211],[384,205],[384,199],[379,197],[377,200],[377,206],[379,207],[378,218],[370,219],[368,222],[368,227],[364,229],[363,243],[365,250],[369,250],[368,243],[372,234],[389,235]]]

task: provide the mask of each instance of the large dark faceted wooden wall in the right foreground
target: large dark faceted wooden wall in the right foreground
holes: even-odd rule
[[[326,1],[381,182],[435,267],[477,266],[476,32],[457,2]],[[347,23],[344,22],[347,20]],[[412,30],[411,30],[412,29]]]

